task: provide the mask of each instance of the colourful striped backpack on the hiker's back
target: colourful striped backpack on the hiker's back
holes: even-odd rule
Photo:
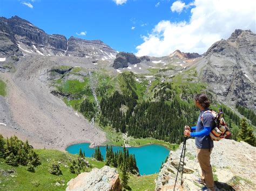
[[[224,113],[221,111],[219,112],[219,114],[213,110],[207,110],[204,111],[204,113],[201,116],[201,122],[203,123],[203,116],[205,113],[207,112],[211,112],[213,117],[214,117],[214,121],[215,121],[215,128],[213,128],[210,132],[210,137],[212,140],[220,140],[220,139],[228,139],[231,136],[231,132],[230,129],[228,128],[227,124],[224,121]]]

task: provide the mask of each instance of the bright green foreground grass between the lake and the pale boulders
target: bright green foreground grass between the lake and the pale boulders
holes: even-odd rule
[[[66,183],[72,178],[75,178],[77,174],[72,174],[69,171],[69,160],[76,159],[77,155],[69,154],[57,150],[35,150],[41,159],[41,165],[35,168],[35,172],[26,171],[25,166],[13,167],[5,164],[3,159],[0,159],[0,169],[6,171],[8,169],[14,169],[15,172],[10,175],[0,175],[0,190],[65,190]],[[92,168],[102,168],[105,162],[97,161],[93,158],[85,158],[89,161]],[[53,175],[48,172],[49,164],[52,160],[60,162],[60,169],[62,175]],[[65,166],[66,165],[66,166]],[[119,178],[122,180],[122,173],[117,168]],[[12,177],[13,176],[13,177]],[[154,190],[154,179],[157,178],[157,174],[136,176],[130,174],[128,186],[132,190]],[[56,182],[60,183],[60,186],[56,186]]]

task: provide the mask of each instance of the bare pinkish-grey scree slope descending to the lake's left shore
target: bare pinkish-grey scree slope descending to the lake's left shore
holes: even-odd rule
[[[19,62],[15,74],[0,74],[2,79],[8,80],[6,102],[3,98],[0,100],[7,125],[0,125],[1,133],[10,136],[14,132],[18,137],[28,138],[35,147],[60,150],[72,143],[99,145],[105,142],[103,131],[87,122],[83,116],[77,116],[72,108],[50,94],[42,75],[55,63],[47,59],[42,56],[26,59]]]

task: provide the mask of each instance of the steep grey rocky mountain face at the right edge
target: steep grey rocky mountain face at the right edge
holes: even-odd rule
[[[201,80],[227,105],[256,109],[256,34],[235,30],[205,53]]]

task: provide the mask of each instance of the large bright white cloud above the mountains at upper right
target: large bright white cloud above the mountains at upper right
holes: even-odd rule
[[[227,39],[235,29],[256,32],[256,1],[195,0],[188,22],[161,20],[136,47],[136,55],[165,56],[176,49],[203,54],[220,39]],[[186,5],[185,5],[186,6]]]

